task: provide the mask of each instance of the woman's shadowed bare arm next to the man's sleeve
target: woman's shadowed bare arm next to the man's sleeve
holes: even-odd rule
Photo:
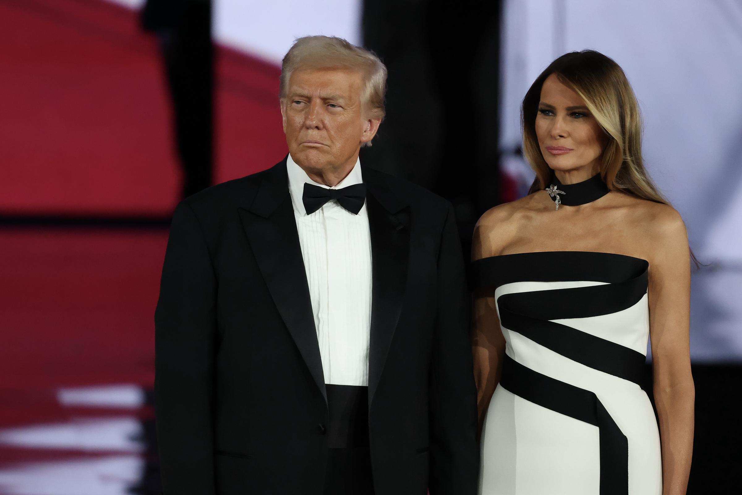
[[[474,228],[472,241],[472,260],[498,254],[490,241],[493,230],[493,210],[485,213]],[[471,350],[474,358],[474,380],[476,382],[476,403],[479,416],[479,432],[482,432],[487,407],[500,380],[502,358],[505,355],[505,337],[500,330],[495,304],[495,290],[475,289]]]

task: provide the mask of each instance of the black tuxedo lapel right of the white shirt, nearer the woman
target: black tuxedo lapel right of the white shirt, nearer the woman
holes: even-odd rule
[[[373,399],[397,327],[407,284],[410,211],[374,171],[363,169],[367,184],[372,252],[369,404]]]

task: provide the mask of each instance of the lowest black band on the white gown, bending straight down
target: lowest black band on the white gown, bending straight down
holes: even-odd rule
[[[628,494],[628,439],[589,390],[531,370],[505,355],[500,386],[527,401],[598,427],[600,495]]]

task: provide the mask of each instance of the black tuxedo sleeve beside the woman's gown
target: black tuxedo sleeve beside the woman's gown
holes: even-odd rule
[[[438,308],[430,364],[430,495],[474,495],[479,479],[470,303],[453,207],[438,256]]]

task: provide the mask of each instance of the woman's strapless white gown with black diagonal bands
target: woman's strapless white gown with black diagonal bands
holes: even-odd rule
[[[505,362],[482,431],[482,495],[660,495],[642,390],[649,263],[603,252],[476,260],[495,288]]]

